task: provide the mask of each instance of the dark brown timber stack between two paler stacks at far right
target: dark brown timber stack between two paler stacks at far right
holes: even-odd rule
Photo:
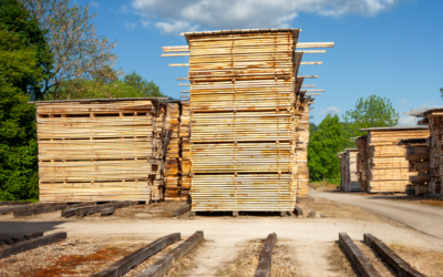
[[[411,185],[406,189],[408,194],[427,194],[430,192],[430,157],[431,147],[425,138],[401,140],[399,145],[406,148],[406,160],[409,161],[409,171],[416,172],[416,176],[411,176]]]

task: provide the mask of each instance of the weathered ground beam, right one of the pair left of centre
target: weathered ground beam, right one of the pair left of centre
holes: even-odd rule
[[[140,274],[138,277],[162,277],[167,274],[167,271],[173,267],[173,264],[182,256],[188,254],[203,240],[203,232],[197,230],[194,235],[178,245],[177,248],[163,256],[161,259],[155,261],[154,265]]]

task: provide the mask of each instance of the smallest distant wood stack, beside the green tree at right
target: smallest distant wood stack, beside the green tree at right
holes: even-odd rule
[[[357,148],[347,148],[339,152],[337,156],[340,160],[341,191],[360,192],[361,186],[357,174]]]

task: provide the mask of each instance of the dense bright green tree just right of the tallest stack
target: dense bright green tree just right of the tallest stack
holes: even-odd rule
[[[308,167],[311,181],[340,177],[340,162],[336,155],[343,150],[343,145],[339,116],[328,114],[309,137]]]

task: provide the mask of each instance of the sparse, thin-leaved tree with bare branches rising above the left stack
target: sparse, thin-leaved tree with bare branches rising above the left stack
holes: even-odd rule
[[[48,30],[45,38],[53,53],[53,76],[44,82],[43,93],[48,98],[61,99],[56,94],[66,82],[93,80],[97,74],[113,79],[120,71],[109,71],[117,59],[111,51],[116,43],[105,37],[97,38],[91,22],[96,14],[70,0],[20,0],[39,21],[40,28]],[[103,70],[105,69],[105,70]],[[106,75],[109,73],[109,75]]]

